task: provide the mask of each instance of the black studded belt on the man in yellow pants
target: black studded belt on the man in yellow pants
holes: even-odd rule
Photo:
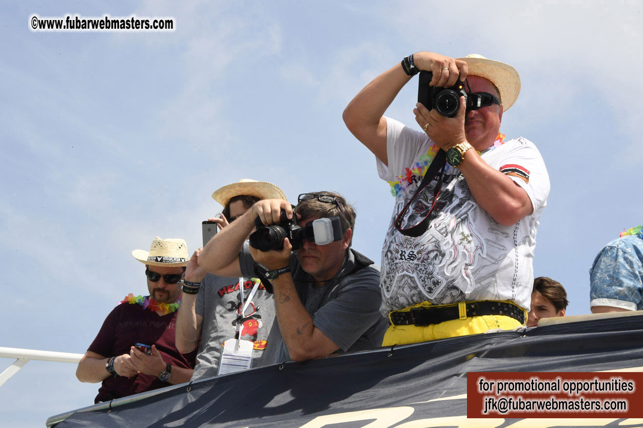
[[[513,303],[506,301],[476,301],[465,303],[467,317],[481,315],[504,315],[525,323],[525,312]],[[458,304],[428,308],[413,308],[404,312],[392,311],[390,318],[393,325],[427,326],[439,324],[452,319],[460,319]]]

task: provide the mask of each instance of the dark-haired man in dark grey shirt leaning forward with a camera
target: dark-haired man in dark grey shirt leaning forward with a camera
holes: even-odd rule
[[[284,200],[259,201],[201,251],[199,265],[208,272],[255,276],[256,271],[270,281],[282,337],[274,362],[381,344],[379,271],[350,248],[355,217],[352,206],[332,192],[303,193],[294,211]],[[280,227],[260,227],[255,232],[260,242],[251,235],[248,249],[242,244],[255,221]]]

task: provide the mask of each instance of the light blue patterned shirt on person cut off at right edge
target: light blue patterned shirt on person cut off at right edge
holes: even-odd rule
[[[590,307],[643,310],[643,235],[607,244],[590,268]]]

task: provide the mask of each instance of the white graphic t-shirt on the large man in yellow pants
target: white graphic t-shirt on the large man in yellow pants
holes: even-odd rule
[[[402,235],[395,218],[422,181],[423,168],[437,150],[424,132],[386,118],[388,167],[377,159],[379,177],[388,181],[395,208],[382,249],[382,312],[423,301],[513,301],[529,311],[534,281],[532,259],[538,218],[547,205],[549,176],[538,149],[525,138],[482,153],[482,159],[507,174],[529,195],[531,215],[502,226],[476,203],[458,168],[446,165],[442,191],[427,231]],[[431,208],[435,183],[415,198],[403,228],[419,223]]]

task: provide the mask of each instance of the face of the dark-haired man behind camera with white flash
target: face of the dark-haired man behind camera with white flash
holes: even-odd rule
[[[306,226],[309,222],[319,217],[302,218],[298,223]],[[352,231],[347,229],[343,239],[331,242],[331,244],[317,245],[309,240],[303,241],[303,246],[297,250],[297,258],[302,269],[311,274],[316,281],[330,280],[340,270],[344,261],[346,250],[349,247]]]

